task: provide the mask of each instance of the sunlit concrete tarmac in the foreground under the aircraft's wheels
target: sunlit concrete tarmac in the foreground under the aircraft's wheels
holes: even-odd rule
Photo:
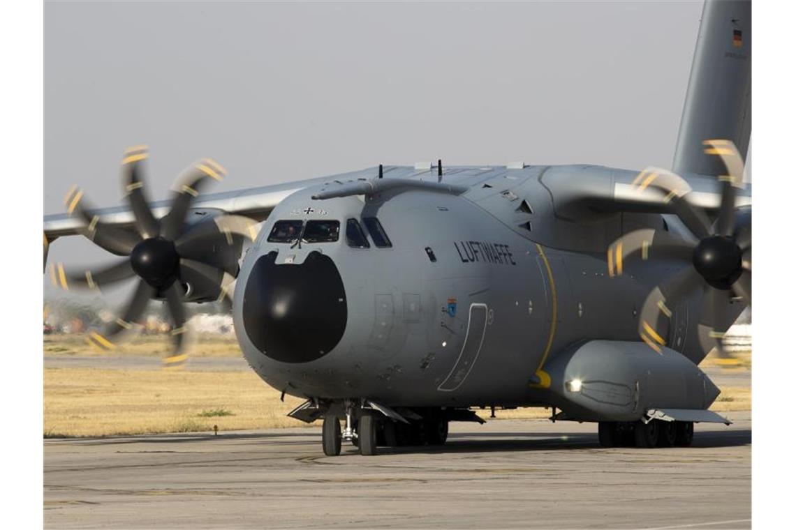
[[[498,412],[499,414],[499,412]],[[47,528],[750,528],[751,414],[693,447],[599,447],[595,424],[451,424],[444,447],[318,427],[45,440]]]

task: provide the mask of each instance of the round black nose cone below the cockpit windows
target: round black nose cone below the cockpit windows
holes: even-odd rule
[[[276,265],[276,256],[259,257],[249,273],[244,330],[269,358],[313,361],[337,346],[345,331],[348,309],[340,273],[322,253],[310,253],[301,265]]]

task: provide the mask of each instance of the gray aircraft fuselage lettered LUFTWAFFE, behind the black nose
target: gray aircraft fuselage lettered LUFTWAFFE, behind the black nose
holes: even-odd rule
[[[589,222],[557,214],[545,179],[558,172],[556,179],[572,173],[583,180],[591,171],[595,178],[634,176],[587,166],[447,168],[443,182],[469,191],[399,189],[326,200],[311,199],[320,186],[295,192],[263,223],[238,276],[233,315],[245,357],[269,385],[299,397],[366,397],[391,406],[547,404],[540,388],[545,364],[586,339],[638,341],[647,293],[683,266],[639,261],[626,264],[620,277],[609,275],[605,250],[615,238],[666,225],[657,214],[599,215]],[[437,180],[412,168],[385,173],[395,176]],[[379,219],[391,247],[377,248],[372,238],[369,248],[349,246],[347,220],[366,217]],[[267,241],[275,222],[291,219],[338,220],[338,241]],[[252,342],[252,333],[267,340],[281,325],[292,325],[282,331],[299,339],[324,331],[316,329],[317,319],[299,320],[302,329],[295,329],[296,320],[282,324],[279,311],[291,303],[289,293],[279,299],[279,311],[267,308],[268,329],[251,314],[244,319],[259,303],[257,289],[279,288],[268,277],[254,277],[265,276],[256,264],[268,257],[271,273],[292,274],[296,269],[279,268],[300,268],[312,253],[328,257],[339,273],[344,295],[330,295],[328,312],[344,313],[341,336],[310,360],[271,355]],[[300,273],[290,277],[304,283]],[[252,290],[253,281],[259,283]],[[318,304],[325,287],[318,285]],[[697,319],[689,315],[697,314],[699,301],[674,308],[669,331],[670,347],[696,363],[704,353]]]

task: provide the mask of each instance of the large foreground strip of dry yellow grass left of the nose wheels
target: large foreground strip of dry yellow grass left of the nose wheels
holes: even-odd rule
[[[45,369],[45,436],[298,427],[256,373]]]

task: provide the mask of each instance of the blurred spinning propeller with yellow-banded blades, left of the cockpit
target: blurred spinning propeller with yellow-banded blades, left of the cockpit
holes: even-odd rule
[[[142,180],[142,162],[149,153],[146,146],[127,149],[122,160],[122,184],[133,212],[134,230],[126,230],[100,220],[92,214],[84,192],[72,187],[64,199],[69,215],[84,221],[80,233],[110,253],[123,256],[100,269],[81,273],[50,266],[53,284],[60,288],[102,289],[138,277],[138,285],[119,318],[108,323],[101,333],[92,332],[88,342],[101,350],[114,350],[115,338],[139,321],[152,299],[165,300],[173,324],[172,350],[163,359],[167,368],[185,365],[188,327],[185,302],[218,300],[232,302],[238,257],[244,240],[253,241],[257,223],[240,215],[219,215],[207,221],[186,225],[185,217],[210,180],[222,180],[226,170],[205,158],[178,176],[170,211],[157,219],[150,209]],[[45,239],[46,241],[46,239]]]

